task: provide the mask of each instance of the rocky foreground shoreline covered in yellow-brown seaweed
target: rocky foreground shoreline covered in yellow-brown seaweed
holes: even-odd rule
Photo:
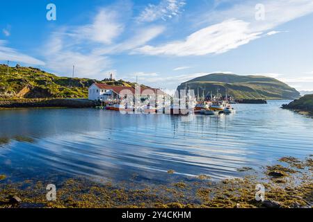
[[[72,178],[58,185],[55,201],[47,201],[45,182],[13,183],[0,176],[0,208],[311,208],[312,155],[305,160],[283,157],[279,162],[264,167],[259,176],[243,168],[238,169],[246,173],[243,178],[220,182],[205,175],[179,181],[170,170],[168,176],[174,180],[169,185],[143,185],[136,182],[136,175],[120,184]],[[259,185],[265,188],[262,200],[256,198]]]

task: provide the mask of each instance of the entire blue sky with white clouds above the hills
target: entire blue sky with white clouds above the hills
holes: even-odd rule
[[[167,92],[214,72],[312,91],[312,24],[312,0],[10,0],[0,62],[58,76],[74,65],[77,77],[112,73]]]

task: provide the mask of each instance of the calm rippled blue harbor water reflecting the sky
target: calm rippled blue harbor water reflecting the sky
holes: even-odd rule
[[[127,180],[136,173],[160,183],[169,169],[182,177],[240,176],[241,167],[313,154],[313,119],[280,109],[283,103],[237,104],[236,114],[191,121],[95,109],[1,110],[0,174]]]

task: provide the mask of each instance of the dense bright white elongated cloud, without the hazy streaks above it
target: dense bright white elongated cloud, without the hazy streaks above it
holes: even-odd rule
[[[169,56],[203,56],[209,53],[225,53],[230,49],[255,40],[261,33],[251,33],[249,23],[230,19],[220,24],[202,28],[184,41],[160,46],[143,46],[138,53]]]

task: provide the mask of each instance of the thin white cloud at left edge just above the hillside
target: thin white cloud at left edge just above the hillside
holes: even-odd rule
[[[45,65],[45,62],[28,56],[24,53],[6,46],[5,40],[0,40],[0,60],[10,60],[13,62],[23,62],[29,65]]]

